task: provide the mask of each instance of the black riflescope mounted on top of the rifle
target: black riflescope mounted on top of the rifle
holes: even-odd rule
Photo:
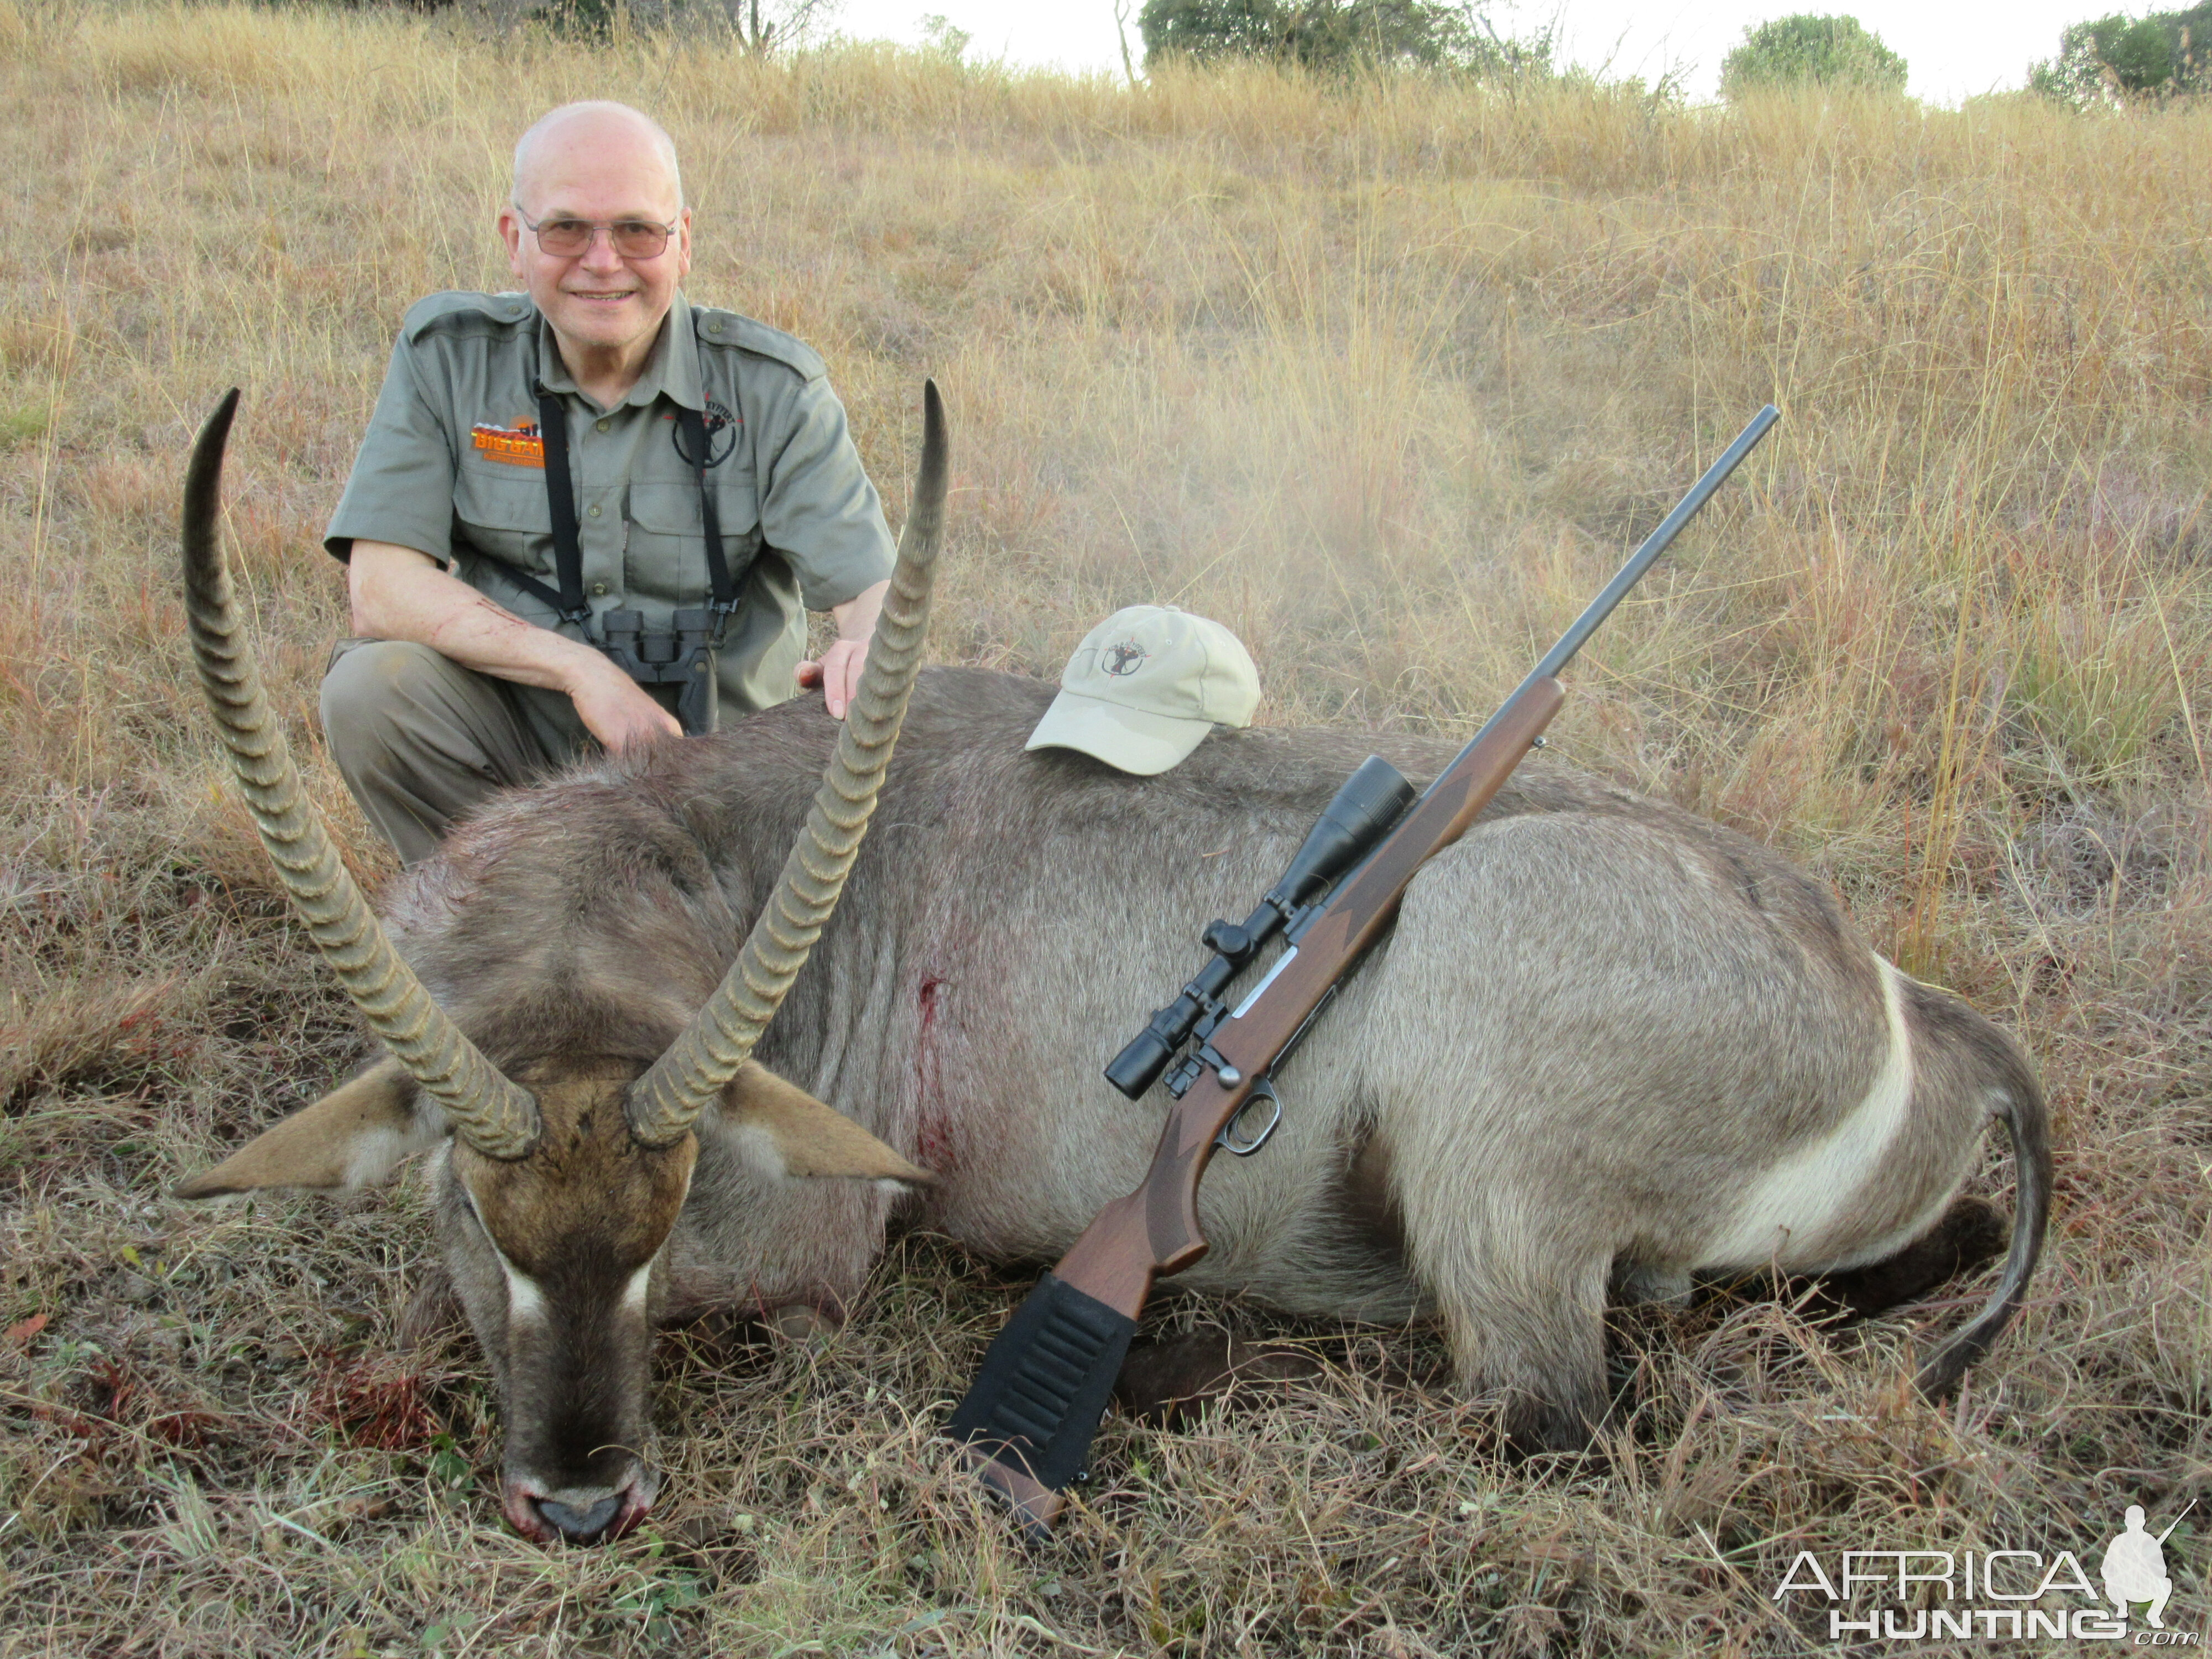
[[[1106,1066],[1106,1082],[1130,1099],[1144,1099],[1144,1093],[1159,1082],[1159,1073],[1190,1042],[1199,1022],[1210,1022],[1206,1033],[1212,1035],[1214,1024],[1225,1013],[1221,993],[1252,964],[1261,945],[1290,927],[1298,911],[1318,902],[1336,878],[1398,823],[1398,814],[1411,801],[1413,785],[1398,768],[1380,754],[1369,754],[1321,810],[1318,823],[1307,832],[1305,845],[1290,860],[1283,880],[1267,889],[1252,914],[1243,922],[1214,920],[1206,925],[1199,942],[1214,958],[1192,975],[1175,1002],[1159,1009],[1144,1031],[1113,1057],[1113,1064]]]

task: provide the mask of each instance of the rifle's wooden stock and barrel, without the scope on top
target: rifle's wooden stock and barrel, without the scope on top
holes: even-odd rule
[[[1033,1535],[1051,1531],[1088,1455],[1152,1281],[1206,1254],[1199,1181],[1223,1133],[1398,918],[1420,867],[1467,834],[1542,739],[1566,701],[1559,670],[1778,418],[1774,405],[1752,418],[1391,832],[1301,916],[1267,975],[1212,1026],[1208,1064],[1168,1110],[1144,1183],[1099,1210],[993,1340],[949,1431]]]

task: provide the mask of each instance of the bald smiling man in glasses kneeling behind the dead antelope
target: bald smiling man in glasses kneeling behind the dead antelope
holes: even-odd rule
[[[358,637],[323,728],[405,863],[597,748],[799,686],[843,717],[894,557],[823,361],[686,303],[690,208],[655,122],[540,119],[498,230],[524,292],[407,312],[325,535]],[[810,608],[836,619],[821,661]]]

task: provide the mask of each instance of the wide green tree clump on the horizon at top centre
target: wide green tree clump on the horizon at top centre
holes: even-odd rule
[[[1144,0],[1146,62],[1272,58],[1307,69],[1420,64],[1471,73],[1551,69],[1551,29],[1498,33],[1486,11],[1447,0]]]

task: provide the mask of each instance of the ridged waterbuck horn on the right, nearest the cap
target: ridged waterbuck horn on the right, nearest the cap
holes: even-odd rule
[[[860,690],[845,712],[845,730],[821,790],[814,792],[805,830],[783,860],[776,891],[745,936],[737,962],[690,1029],[630,1088],[630,1133],[646,1146],[679,1139],[721,1086],[737,1077],[836,909],[876,810],[876,790],[898,741],[907,692],[922,666],[929,582],[945,529],[945,403],[938,398],[938,383],[927,380],[922,465]]]

